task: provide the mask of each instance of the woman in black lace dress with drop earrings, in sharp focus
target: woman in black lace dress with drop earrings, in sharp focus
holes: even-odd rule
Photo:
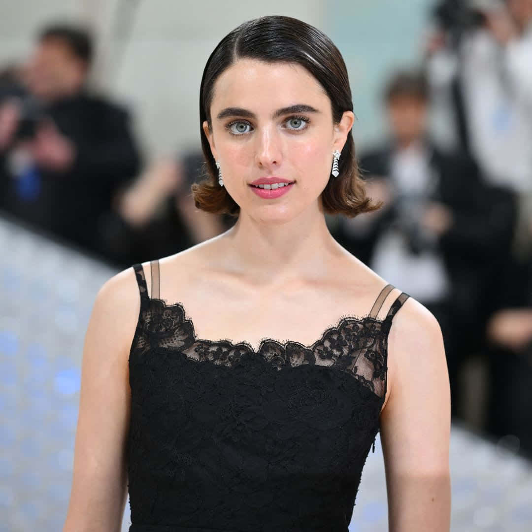
[[[237,221],[99,291],[64,530],[118,530],[127,483],[131,532],[347,530],[379,428],[390,530],[449,529],[438,323],[325,223],[377,208],[352,109],[342,56],[301,21],[252,20],[215,48],[193,193]]]

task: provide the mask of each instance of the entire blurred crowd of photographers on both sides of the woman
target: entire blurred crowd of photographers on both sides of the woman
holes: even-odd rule
[[[328,223],[438,319],[454,419],[480,356],[482,428],[532,456],[532,0],[444,0],[428,28],[419,68],[384,87],[386,138],[360,156],[384,207]],[[201,151],[143,163],[129,113],[87,88],[92,59],[88,32],[53,24],[0,72],[3,213],[123,268],[229,228],[195,209]]]

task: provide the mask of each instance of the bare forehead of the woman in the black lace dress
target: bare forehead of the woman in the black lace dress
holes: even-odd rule
[[[239,59],[215,81],[211,112],[242,107],[269,113],[294,103],[323,107],[329,97],[318,80],[297,63]]]

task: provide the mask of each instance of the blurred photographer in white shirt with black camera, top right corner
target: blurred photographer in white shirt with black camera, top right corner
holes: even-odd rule
[[[514,251],[526,255],[532,220],[532,0],[445,0],[435,15],[427,66],[442,119],[437,122],[454,117],[439,131],[454,128],[450,142],[469,150],[485,179],[518,193]]]

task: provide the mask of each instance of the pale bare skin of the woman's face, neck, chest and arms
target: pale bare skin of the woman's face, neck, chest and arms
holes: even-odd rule
[[[294,105],[313,111],[282,111]],[[222,113],[230,108],[246,116]],[[210,112],[212,127],[203,127],[240,215],[229,231],[160,261],[161,297],[184,304],[197,336],[246,340],[255,349],[265,336],[310,345],[342,315],[368,314],[386,280],[336,243],[320,200],[332,153],[342,151],[353,113],[335,124],[327,94],[301,66],[247,59],[215,82]],[[264,200],[248,184],[269,176],[295,184],[287,194]],[[144,268],[149,280],[149,263]],[[389,294],[379,318],[398,294]],[[129,268],[99,290],[87,329],[64,532],[120,528],[128,353],[138,312]],[[409,298],[390,330],[381,411],[389,530],[449,530],[450,419],[440,328]]]

